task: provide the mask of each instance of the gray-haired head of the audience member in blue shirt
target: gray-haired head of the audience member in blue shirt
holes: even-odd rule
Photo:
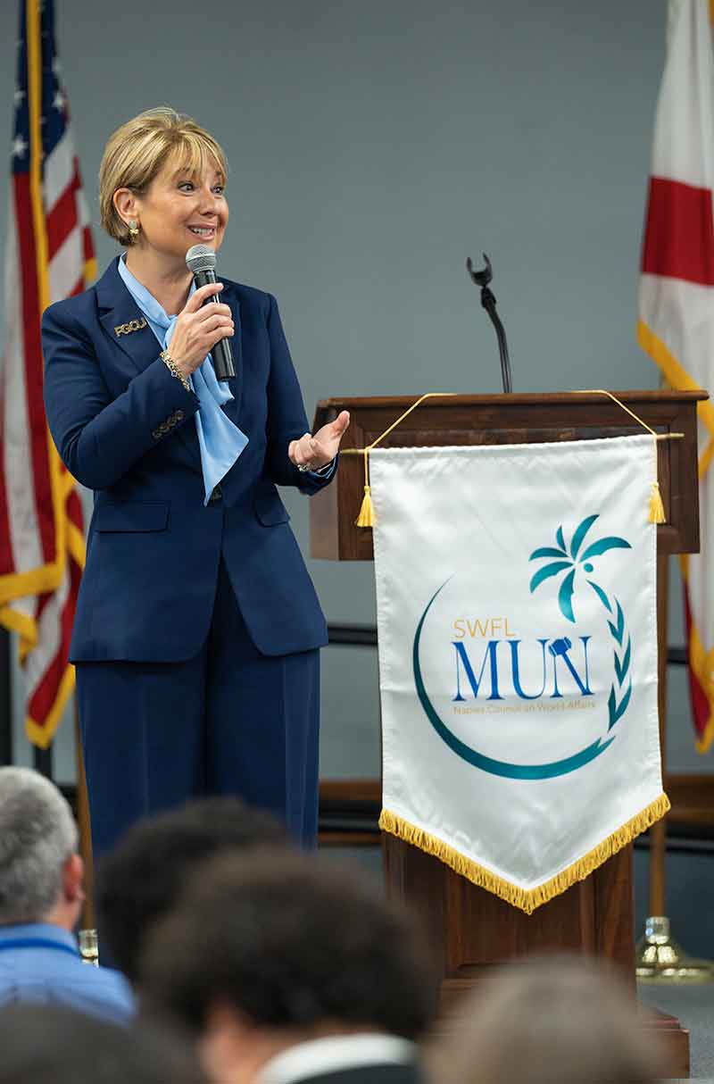
[[[0,925],[52,922],[74,929],[82,861],[69,804],[27,767],[0,767]]]

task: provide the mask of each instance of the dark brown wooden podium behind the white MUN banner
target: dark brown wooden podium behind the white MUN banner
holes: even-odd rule
[[[658,527],[658,589],[666,584],[668,556],[699,550],[697,402],[705,391],[620,391],[618,398],[658,434],[659,481],[666,522]],[[317,404],[313,431],[350,411],[345,449],[372,443],[415,397],[327,399]],[[592,440],[641,434],[621,406],[601,393],[453,396],[427,399],[380,447],[520,444]],[[354,526],[364,487],[363,456],[346,454],[335,482],[311,501],[313,557],[372,560],[372,530]],[[666,687],[666,598],[658,590],[660,721]],[[471,988],[494,964],[543,950],[603,956],[635,983],[632,846],[533,915],[477,888],[447,866],[392,836],[384,837],[388,891],[424,914],[438,947],[442,1005]],[[672,1059],[663,1076],[689,1071],[688,1036],[672,1017],[652,1025],[665,1034]]]

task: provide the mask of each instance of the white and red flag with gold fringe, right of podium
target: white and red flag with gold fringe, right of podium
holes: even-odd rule
[[[674,388],[714,389],[711,0],[670,0],[639,289],[640,346]],[[698,404],[701,551],[683,558],[697,747],[714,741],[714,406]]]

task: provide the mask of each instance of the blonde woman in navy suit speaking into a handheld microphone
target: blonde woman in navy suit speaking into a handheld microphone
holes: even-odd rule
[[[274,297],[195,288],[186,251],[220,247],[226,173],[172,109],[119,128],[100,202],[126,254],[42,321],[50,430],[94,490],[70,659],[99,853],[203,793],[315,838],[326,627],[275,486],[326,486],[349,415],[306,431]],[[235,376],[219,382],[224,338]]]

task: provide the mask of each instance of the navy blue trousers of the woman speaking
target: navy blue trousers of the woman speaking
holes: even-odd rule
[[[241,795],[313,846],[320,653],[261,655],[224,566],[195,658],[79,662],[77,696],[100,853],[135,816],[205,793]]]

